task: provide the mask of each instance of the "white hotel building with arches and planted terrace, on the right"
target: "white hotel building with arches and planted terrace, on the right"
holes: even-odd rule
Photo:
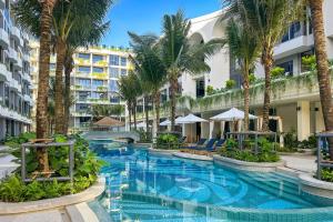
[[[332,60],[333,14],[330,13],[330,9],[333,9],[333,1],[325,0],[324,24],[326,46],[329,58]],[[191,19],[192,28],[189,38],[194,42],[206,42],[213,38],[224,37],[226,21],[221,22],[219,20],[222,13],[224,12],[216,11]],[[275,80],[272,83],[271,130],[280,132],[295,130],[299,140],[305,140],[309,135],[324,129],[316,77],[304,72],[302,69],[302,57],[313,53],[314,40],[309,21],[294,23],[283,37],[281,43],[274,49],[274,65],[284,68],[285,71],[289,72],[289,75],[292,77],[284,80]],[[221,89],[225,87],[225,81],[229,79],[235,80],[238,88],[241,88],[241,75],[235,69],[234,61],[230,59],[228,48],[222,49],[206,62],[211,67],[209,73],[195,77],[183,73],[179,78],[181,85],[180,92],[183,99],[178,103],[178,115],[192,112],[208,120],[232,107],[243,109],[241,90],[231,90],[213,95],[205,94],[208,85],[214,89]],[[264,77],[263,68],[260,62],[258,62],[254,73],[258,78]],[[168,88],[169,85],[165,85],[161,90],[163,101],[169,100]],[[190,99],[184,95],[191,97],[191,102]],[[250,103],[251,112],[260,117],[263,104],[263,84],[252,85]],[[151,113],[150,118],[153,120],[153,113]],[[162,120],[170,118],[170,110],[162,111],[161,118]],[[139,120],[140,119],[144,121],[143,113],[139,114]],[[196,137],[203,138],[209,138],[210,135],[214,137],[221,129],[220,124],[219,122],[198,123],[196,125],[192,125],[192,129],[189,129],[188,125],[183,129],[183,132],[185,134],[189,134],[186,132],[190,131],[192,133],[196,132]],[[253,123],[252,129],[254,129]]]

